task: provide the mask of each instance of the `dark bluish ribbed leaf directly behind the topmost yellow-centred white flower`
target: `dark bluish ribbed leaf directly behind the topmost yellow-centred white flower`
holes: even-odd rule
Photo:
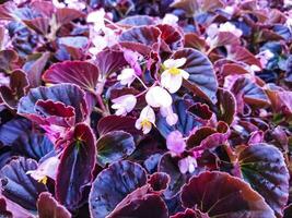
[[[184,86],[196,95],[215,104],[218,82],[210,60],[202,52],[192,48],[178,50],[172,58],[187,59],[187,62],[182,66],[182,69],[189,73],[188,80],[184,81]]]

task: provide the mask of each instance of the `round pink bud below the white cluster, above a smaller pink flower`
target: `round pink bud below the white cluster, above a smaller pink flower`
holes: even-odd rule
[[[166,137],[166,146],[167,149],[171,150],[175,155],[180,155],[185,152],[186,143],[183,138],[183,134],[179,131],[171,132]]]

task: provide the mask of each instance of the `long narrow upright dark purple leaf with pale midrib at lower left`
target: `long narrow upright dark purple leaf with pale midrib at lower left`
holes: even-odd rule
[[[92,181],[96,142],[91,128],[84,123],[77,124],[67,138],[57,171],[56,198],[67,208],[74,209],[79,206],[84,186]]]

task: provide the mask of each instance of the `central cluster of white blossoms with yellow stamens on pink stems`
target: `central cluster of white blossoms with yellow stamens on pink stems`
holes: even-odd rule
[[[161,116],[166,119],[170,125],[174,125],[177,122],[177,114],[173,111],[173,99],[171,94],[176,93],[182,84],[183,78],[187,80],[189,74],[179,69],[186,63],[185,58],[168,59],[164,61],[164,71],[161,74],[161,80],[155,82],[153,86],[147,87],[147,85],[139,78],[137,71],[133,69],[124,69],[117,80],[121,85],[128,87],[137,78],[142,83],[145,90],[147,106],[142,109],[140,118],[136,122],[136,128],[143,131],[144,134],[151,131],[152,125],[155,125],[155,112],[153,109],[160,109]],[[141,94],[139,94],[140,96]],[[113,99],[113,109],[116,109],[117,116],[126,116],[133,110],[137,104],[137,97],[135,95],[124,95],[116,99]]]

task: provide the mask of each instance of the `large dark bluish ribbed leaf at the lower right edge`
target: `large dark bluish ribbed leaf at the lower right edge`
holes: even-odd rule
[[[265,143],[252,144],[240,153],[244,179],[250,183],[278,217],[289,196],[289,171],[281,152]]]

